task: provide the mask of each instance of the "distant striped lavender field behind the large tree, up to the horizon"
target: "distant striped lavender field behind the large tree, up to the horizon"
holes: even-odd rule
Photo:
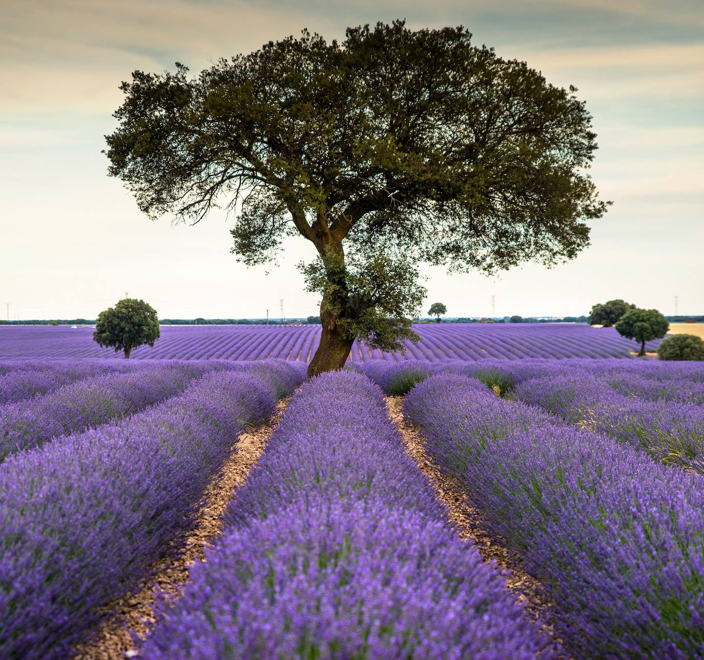
[[[415,325],[419,344],[406,342],[405,359],[430,362],[524,358],[627,358],[638,348],[613,328],[591,328],[570,323],[482,324],[424,323]],[[0,326],[0,359],[6,358],[115,358],[111,349],[92,340],[92,328],[66,326]],[[132,351],[134,359],[226,359],[279,358],[308,362],[320,340],[317,325],[204,325],[163,326],[153,348]],[[653,351],[658,341],[648,342]],[[352,362],[383,359],[401,361],[398,353],[370,350],[355,342]]]

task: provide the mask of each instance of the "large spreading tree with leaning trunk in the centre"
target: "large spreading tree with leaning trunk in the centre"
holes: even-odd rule
[[[572,259],[606,204],[584,171],[597,145],[576,89],[470,43],[463,27],[351,27],[220,59],[196,77],[134,71],[108,173],[151,219],[237,211],[232,252],[268,263],[284,237],[321,295],[308,373],[341,368],[356,337],[417,340],[417,263],[495,273]]]

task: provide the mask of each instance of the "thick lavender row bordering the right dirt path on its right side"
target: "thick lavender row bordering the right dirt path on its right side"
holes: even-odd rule
[[[704,655],[703,478],[462,375],[425,380],[405,409],[555,599],[572,655]]]

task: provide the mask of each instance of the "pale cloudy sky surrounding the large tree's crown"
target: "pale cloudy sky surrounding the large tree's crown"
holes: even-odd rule
[[[564,316],[623,298],[672,314],[704,313],[704,4],[701,0],[0,0],[0,318],[95,318],[127,292],[161,318],[279,318],[318,313],[291,238],[279,266],[230,254],[232,214],[151,221],[108,177],[104,135],[133,70],[197,74],[220,57],[307,27],[464,25],[575,85],[593,115],[591,168],[614,202],[591,247],[554,268],[487,278],[423,267],[448,316]],[[9,308],[6,304],[9,304]]]

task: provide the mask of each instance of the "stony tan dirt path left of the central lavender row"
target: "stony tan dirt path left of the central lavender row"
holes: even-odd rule
[[[118,614],[103,625],[92,642],[77,649],[73,660],[124,660],[126,657],[139,656],[129,631],[132,630],[144,639],[153,627],[156,594],[178,597],[180,587],[189,580],[190,567],[196,561],[205,561],[204,550],[213,544],[215,537],[222,531],[222,516],[227,504],[263,454],[265,444],[279,425],[288,401],[289,399],[279,401],[268,423],[239,436],[225,465],[203,493],[196,524],[178,541],[184,548],[180,559],[158,564],[156,575],[142,590],[113,604],[111,610]]]

